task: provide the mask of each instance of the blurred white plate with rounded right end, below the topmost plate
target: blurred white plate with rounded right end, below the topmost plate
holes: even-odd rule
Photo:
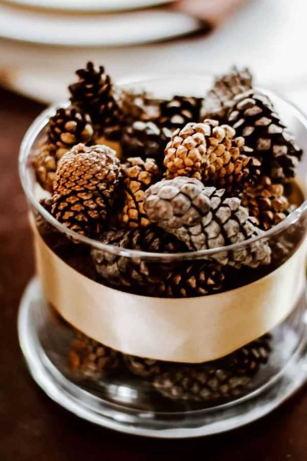
[[[163,9],[71,14],[0,7],[0,36],[49,45],[135,45],[177,37],[199,27],[197,19]]]

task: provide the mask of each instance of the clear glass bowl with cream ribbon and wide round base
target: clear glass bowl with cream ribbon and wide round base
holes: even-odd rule
[[[145,89],[158,98],[174,94],[190,96],[192,88],[193,96],[202,96],[211,80],[170,77],[135,82],[127,88]],[[305,117],[288,101],[272,92],[266,93],[297,143],[306,148]],[[49,108],[33,122],[21,145],[19,159],[42,279],[35,277],[29,283],[20,303],[18,320],[20,345],[35,381],[53,400],[91,422],[155,437],[181,438],[222,432],[251,422],[280,405],[306,379],[307,201],[303,201],[302,192],[305,158],[299,165],[297,182],[286,186],[288,195],[299,206],[258,237],[188,253],[119,248],[75,234],[40,204],[43,194],[35,181],[31,159],[53,113],[54,108]],[[64,264],[61,269],[56,266],[49,272],[54,260]],[[204,264],[208,266],[208,261],[214,267],[222,267],[226,280],[222,292],[212,290],[209,296],[203,296],[199,290],[195,296],[195,290],[189,291],[185,285],[187,297],[183,299],[180,285],[167,298],[170,273],[184,271],[195,278],[202,273]],[[252,261],[253,267],[247,261]],[[119,269],[108,279],[107,271],[96,270],[97,264],[99,267],[116,264]],[[65,270],[63,276],[59,275],[60,270]],[[87,285],[89,280],[93,285]],[[155,280],[155,289],[148,280]],[[99,298],[99,287],[109,288],[102,292],[107,300],[97,300],[92,294],[98,310],[100,305],[110,303],[104,305],[102,313],[98,314],[91,303],[82,305],[76,299],[76,292],[79,294],[81,289],[79,282],[86,285],[81,287],[83,295],[95,286]],[[56,290],[65,291],[56,297],[65,305],[53,306]],[[131,299],[138,300],[139,310],[129,311],[125,303]],[[167,308],[163,312],[159,308],[153,314],[157,300]],[[225,317],[229,325],[215,325],[215,335],[229,335],[237,323],[238,338],[232,342],[223,338],[216,341],[212,336],[210,345],[204,316],[206,309],[214,309],[220,302],[231,302],[232,309]],[[272,309],[268,309],[268,302]],[[75,309],[76,303],[79,305]],[[123,305],[119,306],[120,303]],[[167,316],[176,315],[177,306],[181,317],[185,319],[184,309],[188,314],[185,320],[178,319],[176,337],[171,336],[173,325],[169,326],[173,318]],[[108,318],[112,317],[108,312],[112,313],[112,319]],[[193,316],[194,324],[189,321]],[[104,344],[98,341],[96,333],[96,325],[102,319],[106,325]],[[186,334],[187,344],[195,346],[198,340],[192,338],[193,331],[195,337],[201,334],[195,323],[201,323],[207,337],[204,344],[209,347],[204,354],[202,350],[193,352],[198,363],[187,363],[187,346],[177,344],[176,338]],[[114,344],[120,347],[115,348]],[[206,360],[201,361],[201,357]]]

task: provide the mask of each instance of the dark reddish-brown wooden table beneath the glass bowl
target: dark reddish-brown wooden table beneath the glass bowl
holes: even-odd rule
[[[86,423],[32,381],[16,333],[19,298],[33,274],[27,206],[17,175],[21,138],[42,106],[0,89],[0,461],[307,461],[307,389],[245,428],[157,441]]]

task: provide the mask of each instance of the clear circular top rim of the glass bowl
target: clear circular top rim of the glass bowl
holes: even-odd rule
[[[206,78],[207,77],[207,78]],[[192,80],[203,80],[207,81],[208,75],[193,75],[190,78]],[[168,76],[152,76],[146,78],[145,76],[140,77],[140,79],[136,80],[128,80],[122,79],[121,82],[118,83],[119,86],[133,86],[133,85],[141,85],[142,82],[149,83],[154,81],[163,81],[172,78],[173,80],[182,80],[182,76],[178,77],[176,75],[168,75]],[[212,75],[210,76],[212,79]],[[264,88],[255,88],[261,92],[264,92],[267,95],[273,95],[274,98],[279,99],[283,102],[286,102],[288,106],[294,112],[294,115],[299,121],[302,123],[304,128],[307,130],[307,117],[304,113],[291,101],[287,98],[281,97],[275,92],[264,89]],[[79,241],[86,245],[90,245],[91,247],[102,250],[104,252],[109,252],[118,256],[130,257],[130,258],[142,258],[142,259],[150,259],[150,260],[160,260],[163,259],[164,261],[167,259],[168,261],[176,261],[176,260],[189,260],[189,259],[208,259],[209,257],[214,257],[214,255],[225,253],[225,252],[234,252],[239,250],[243,247],[250,246],[251,244],[261,240],[267,241],[273,235],[277,235],[282,232],[284,229],[289,227],[290,225],[297,222],[300,216],[307,211],[307,199],[305,199],[300,206],[298,206],[292,213],[290,213],[286,219],[281,221],[280,223],[276,224],[275,226],[268,229],[268,231],[262,231],[262,233],[258,236],[251,237],[247,240],[242,242],[233,243],[231,245],[221,246],[217,248],[210,248],[210,249],[203,249],[203,250],[193,250],[181,253],[153,253],[153,252],[144,252],[143,250],[137,249],[128,249],[128,248],[121,248],[116,245],[105,244],[100,242],[99,240],[95,240],[89,237],[82,236],[67,226],[64,226],[62,223],[57,221],[34,197],[34,194],[31,190],[31,186],[27,179],[27,162],[29,158],[29,153],[32,149],[33,143],[36,141],[37,136],[41,133],[41,131],[46,127],[49,117],[54,114],[56,108],[58,107],[67,107],[69,105],[69,101],[64,101],[62,104],[52,104],[47,109],[43,110],[31,123],[30,127],[25,133],[23,140],[21,141],[20,150],[19,150],[19,159],[18,159],[18,167],[19,167],[19,177],[21,185],[23,186],[24,192],[28,201],[34,206],[34,208],[39,212],[43,218],[46,219],[53,227],[57,228],[58,231],[68,235],[69,237],[73,238],[75,241]],[[34,174],[34,172],[33,172]]]

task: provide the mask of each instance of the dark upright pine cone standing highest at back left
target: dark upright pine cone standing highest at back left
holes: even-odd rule
[[[71,102],[83,113],[90,114],[94,123],[100,123],[106,104],[113,94],[112,80],[102,66],[87,62],[85,69],[77,70],[79,80],[69,86]]]

